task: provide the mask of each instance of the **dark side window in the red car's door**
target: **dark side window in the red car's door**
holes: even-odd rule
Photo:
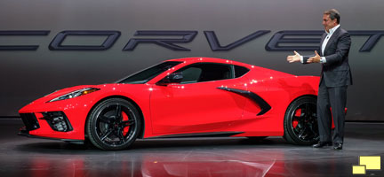
[[[195,83],[202,81],[219,81],[235,78],[232,65],[199,63],[181,68],[176,73],[183,74],[180,83]]]

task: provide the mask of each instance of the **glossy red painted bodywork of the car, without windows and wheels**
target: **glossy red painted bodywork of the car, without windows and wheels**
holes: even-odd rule
[[[20,113],[34,113],[40,128],[29,135],[49,138],[84,140],[85,123],[97,104],[109,97],[122,97],[137,105],[143,118],[142,138],[180,134],[239,132],[233,136],[284,135],[284,114],[289,104],[300,96],[316,96],[319,77],[295,76],[267,68],[219,58],[180,58],[164,73],[143,84],[111,83],[84,85],[61,89],[20,109]],[[243,76],[220,81],[188,84],[156,85],[180,68],[195,63],[239,65],[250,71]],[[84,96],[49,102],[74,90],[96,88]],[[260,104],[247,96],[218,89],[230,88],[250,91],[265,100],[271,109],[258,115]],[[54,131],[43,118],[43,112],[64,112],[72,131]]]

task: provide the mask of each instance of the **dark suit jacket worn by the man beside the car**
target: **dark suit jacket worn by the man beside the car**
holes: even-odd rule
[[[339,27],[333,33],[327,42],[324,55],[321,52],[321,46],[326,37],[322,36],[319,50],[317,53],[325,57],[326,63],[322,64],[321,81],[328,88],[352,85],[352,73],[348,64],[348,53],[351,45],[351,39],[348,31]],[[308,58],[313,56],[303,56],[303,63],[306,64]]]

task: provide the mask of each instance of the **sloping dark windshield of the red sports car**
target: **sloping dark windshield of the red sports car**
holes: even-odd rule
[[[179,61],[166,61],[164,63],[151,66],[145,70],[140,71],[139,73],[133,73],[132,75],[124,78],[121,81],[117,81],[117,83],[146,83],[147,81],[153,79],[158,74],[167,71],[175,65],[179,65],[181,62]]]

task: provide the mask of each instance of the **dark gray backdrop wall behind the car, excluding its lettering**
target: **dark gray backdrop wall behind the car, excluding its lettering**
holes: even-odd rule
[[[0,50],[0,116],[17,111],[56,89],[116,81],[164,59],[184,57],[228,58],[285,73],[318,75],[320,65],[288,64],[288,51],[267,51],[265,45],[281,30],[323,30],[324,10],[341,13],[347,30],[382,30],[381,0],[2,0],[0,30],[50,30],[46,36],[0,36],[0,45],[38,44],[38,50]],[[117,30],[122,33],[109,50],[49,50],[54,36],[64,30]],[[196,30],[190,51],[174,51],[140,44],[123,51],[137,30]],[[212,30],[222,45],[258,30],[267,35],[229,51],[212,51],[204,31]],[[100,44],[102,37],[72,37],[64,44]],[[353,36],[349,64],[355,85],[348,88],[348,120],[384,120],[384,42],[370,52],[358,50],[366,36]],[[311,52],[301,52],[308,54]]]

